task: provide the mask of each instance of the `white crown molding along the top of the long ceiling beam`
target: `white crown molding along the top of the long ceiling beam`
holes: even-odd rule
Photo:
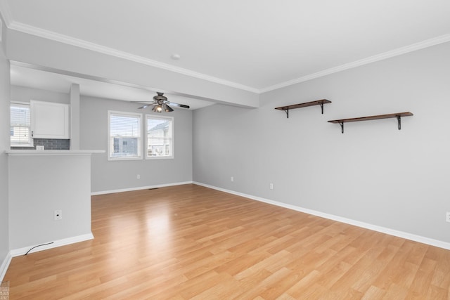
[[[1,0],[0,0],[1,1]],[[142,56],[136,56],[134,54],[131,53],[127,53],[124,51],[119,51],[116,50],[114,48],[110,48],[110,47],[106,47],[106,46],[101,46],[95,43],[91,43],[89,41],[84,41],[82,39],[76,39],[74,37],[68,37],[67,35],[64,34],[58,34],[56,32],[51,32],[49,30],[43,30],[41,28],[38,27],[34,27],[34,26],[30,26],[21,22],[11,22],[11,24],[8,26],[9,29],[11,30],[17,30],[19,32],[24,32],[26,34],[32,34],[34,36],[37,37],[42,37],[44,39],[51,39],[53,41],[59,41],[60,43],[63,44],[69,44],[72,46],[77,46],[79,48],[85,48],[87,50],[91,50],[91,51],[96,51],[98,53],[103,53],[106,54],[108,56],[115,56],[117,58],[122,58],[125,60],[131,60],[135,63],[141,63],[143,65],[149,65],[151,67],[158,67],[162,70],[167,70],[167,71],[171,71],[171,72],[176,72],[179,74],[184,74],[186,76],[190,76],[190,77],[195,77],[198,79],[203,79],[206,81],[211,81],[217,84],[222,84],[224,86],[230,86],[232,88],[235,89],[241,89],[244,91],[250,91],[252,93],[259,93],[258,89],[252,88],[250,86],[245,86],[243,84],[238,84],[236,82],[233,81],[228,81],[225,79],[220,79],[217,77],[212,77],[209,76],[207,74],[203,74],[200,72],[194,72],[191,70],[187,70],[184,69],[182,67],[175,67],[173,65],[169,65],[166,63],[160,63],[156,60],[150,60],[149,58],[144,58]]]

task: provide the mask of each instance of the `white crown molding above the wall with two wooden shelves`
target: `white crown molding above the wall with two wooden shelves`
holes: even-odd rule
[[[423,49],[423,48],[428,48],[430,46],[443,44],[443,43],[446,43],[448,41],[450,41],[450,34],[444,34],[444,35],[442,35],[440,37],[435,37],[433,39],[427,39],[425,41],[420,41],[420,42],[418,42],[416,44],[412,44],[412,45],[409,45],[409,46],[404,46],[404,47],[401,47],[401,48],[394,49],[392,51],[387,51],[385,53],[377,54],[376,56],[371,56],[371,57],[368,57],[368,58],[363,58],[361,60],[356,60],[356,61],[354,61],[352,63],[346,63],[345,65],[340,65],[338,67],[331,67],[330,69],[326,69],[326,70],[323,70],[323,71],[320,71],[320,72],[309,74],[309,75],[306,75],[306,76],[303,76],[303,77],[300,77],[300,78],[297,78],[297,79],[292,79],[292,80],[289,80],[289,81],[285,81],[285,82],[282,82],[280,84],[275,84],[273,86],[267,86],[267,87],[265,87],[263,89],[260,89],[259,93],[266,93],[268,91],[274,91],[276,89],[281,89],[281,88],[284,88],[286,86],[292,86],[294,84],[300,84],[301,82],[304,82],[304,81],[308,81],[308,80],[316,79],[316,78],[323,77],[323,76],[326,76],[326,75],[329,75],[329,74],[333,74],[333,73],[341,72],[341,71],[344,71],[344,70],[352,69],[354,67],[359,67],[361,65],[367,65],[369,63],[375,63],[375,62],[377,62],[379,60],[385,60],[387,58],[392,58],[394,56],[401,56],[402,54],[406,54],[406,53],[409,53],[409,52],[412,52],[412,51],[416,51],[416,50],[420,50],[420,49]]]

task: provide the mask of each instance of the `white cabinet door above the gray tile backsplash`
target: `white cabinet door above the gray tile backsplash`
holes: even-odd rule
[[[69,105],[30,100],[33,138],[69,138]]]

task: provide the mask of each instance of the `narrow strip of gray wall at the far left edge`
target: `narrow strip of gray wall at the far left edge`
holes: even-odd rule
[[[3,20],[2,20],[3,21]],[[4,32],[6,30],[3,30]],[[5,36],[2,41],[5,40]],[[9,62],[4,55],[4,45],[0,47],[0,281],[2,266],[9,252],[8,231],[8,157],[9,149]]]

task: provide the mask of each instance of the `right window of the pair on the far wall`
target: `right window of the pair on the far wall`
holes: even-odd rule
[[[146,115],[146,158],[174,158],[174,118]]]

